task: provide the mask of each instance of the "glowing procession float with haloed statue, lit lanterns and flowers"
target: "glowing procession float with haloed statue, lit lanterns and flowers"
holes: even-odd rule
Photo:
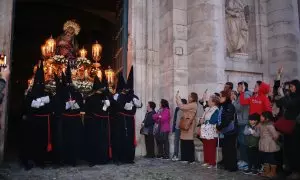
[[[45,73],[45,87],[48,92],[55,92],[55,75],[58,77],[65,73],[68,64],[71,67],[72,81],[76,89],[83,95],[91,92],[94,77],[101,80],[105,73],[110,88],[114,83],[115,72],[108,67],[103,70],[100,60],[102,46],[97,41],[92,45],[92,60],[88,58],[88,51],[82,47],[78,49],[76,36],[80,32],[80,25],[75,20],[67,21],[63,26],[64,33],[58,38],[52,36],[41,46],[43,60],[33,68],[33,76],[28,80],[28,89],[33,85],[33,77],[37,67],[43,62]]]

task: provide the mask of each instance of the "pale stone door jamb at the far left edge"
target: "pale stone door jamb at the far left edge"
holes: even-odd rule
[[[11,47],[12,47],[12,17],[13,17],[13,0],[0,1],[0,51],[4,51],[7,56],[7,64],[11,64]],[[9,82],[7,82],[7,87]],[[0,118],[0,163],[4,156],[5,136],[7,131],[7,91],[4,101],[1,105],[1,118]]]

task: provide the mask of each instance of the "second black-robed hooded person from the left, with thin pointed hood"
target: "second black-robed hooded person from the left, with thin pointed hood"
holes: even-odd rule
[[[60,111],[62,123],[63,158],[64,163],[76,166],[77,159],[81,155],[83,140],[83,124],[81,112],[83,110],[83,97],[75,90],[72,84],[71,68],[68,64],[66,70],[65,87],[61,101],[64,103]]]

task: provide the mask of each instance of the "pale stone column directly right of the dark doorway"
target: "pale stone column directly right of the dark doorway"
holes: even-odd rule
[[[129,1],[128,67],[134,66],[135,94],[143,102],[136,113],[136,156],[145,155],[144,136],[139,133],[148,101],[159,102],[159,0]]]

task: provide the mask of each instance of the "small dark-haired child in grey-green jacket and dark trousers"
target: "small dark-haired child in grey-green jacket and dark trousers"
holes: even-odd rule
[[[247,146],[248,155],[248,169],[244,171],[245,174],[257,175],[259,169],[259,124],[260,115],[255,113],[249,116],[249,124],[244,129],[245,142]]]

